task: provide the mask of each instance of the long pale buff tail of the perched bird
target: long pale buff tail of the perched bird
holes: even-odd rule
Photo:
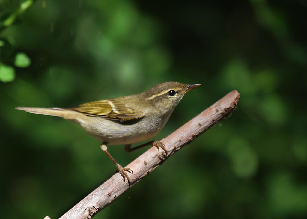
[[[74,119],[76,111],[62,108],[41,108],[41,107],[16,107],[15,109],[23,110],[29,113],[36,113],[48,116],[59,116],[65,119]]]

